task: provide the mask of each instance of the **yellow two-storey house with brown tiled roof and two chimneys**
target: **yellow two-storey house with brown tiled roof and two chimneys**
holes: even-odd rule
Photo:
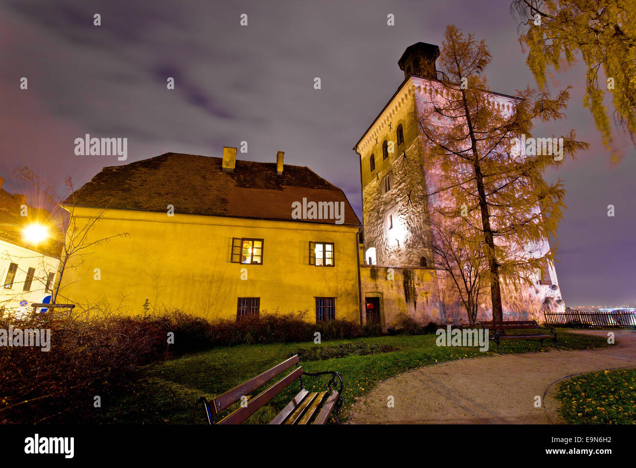
[[[209,319],[307,311],[360,320],[360,222],[340,188],[307,167],[165,153],[105,167],[67,199],[81,227],[60,296],[137,315]],[[69,241],[69,239],[67,239]]]

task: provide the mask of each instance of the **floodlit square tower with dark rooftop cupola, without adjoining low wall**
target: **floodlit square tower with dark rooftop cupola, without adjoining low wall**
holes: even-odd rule
[[[404,81],[353,148],[361,164],[364,264],[431,266],[429,253],[417,247],[417,236],[425,235],[422,225],[429,204],[440,202],[426,194],[445,174],[424,169],[418,117],[431,105],[431,89],[440,85],[435,65],[438,57],[436,45],[418,42],[406,48],[397,62],[404,71]],[[504,108],[511,108],[515,101],[513,96],[503,94],[495,98]],[[528,246],[526,252],[543,255],[549,248],[546,241]],[[507,319],[538,316],[542,309],[564,310],[554,267],[548,266],[548,271],[539,276],[528,291],[506,292],[504,288]],[[442,283],[440,280],[440,301],[445,288]]]

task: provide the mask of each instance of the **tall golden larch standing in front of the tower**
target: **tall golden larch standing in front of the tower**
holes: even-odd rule
[[[490,92],[483,76],[489,62],[484,41],[449,25],[437,62],[444,79],[430,82],[428,102],[420,106],[417,119],[430,218],[439,226],[445,225],[444,218],[460,220],[468,233],[464,239],[480,243],[488,265],[483,277],[490,288],[492,318],[503,320],[502,281],[529,282],[547,260],[554,260],[549,249],[525,254],[526,246],[556,236],[565,209],[562,182],[546,183],[543,171],[587,143],[576,141],[571,131],[560,139],[541,139],[526,151],[522,138],[524,143],[534,141],[537,119],[563,117],[568,90],[554,99],[530,89],[516,97]]]

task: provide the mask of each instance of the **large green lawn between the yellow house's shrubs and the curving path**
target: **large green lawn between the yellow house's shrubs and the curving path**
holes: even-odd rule
[[[570,334],[558,330],[559,348],[580,350],[609,346],[604,337]],[[418,336],[382,336],[349,340],[323,341],[321,344],[285,343],[253,344],[214,348],[173,360],[162,362],[148,371],[135,388],[127,390],[125,395],[114,401],[102,400],[103,413],[100,423],[205,423],[204,410],[197,403],[197,397],[204,395],[209,399],[230,390],[247,379],[266,371],[275,364],[303,348],[305,354],[314,347],[329,347],[347,344],[345,348],[355,350],[373,349],[390,351],[368,355],[348,355],[328,358],[329,353],[310,352],[321,360],[303,361],[300,364],[308,372],[337,371],[342,374],[345,391],[342,420],[349,417],[349,411],[356,399],[366,394],[380,381],[400,372],[423,365],[455,359],[492,355],[497,352],[496,345],[490,343],[488,353],[478,348],[458,348],[436,346],[436,335]],[[364,342],[364,343],[361,343]],[[370,346],[367,346],[370,345]],[[353,346],[352,346],[353,345]],[[340,347],[342,350],[342,347]],[[541,351],[539,340],[508,340],[502,343],[503,353],[523,353]],[[544,342],[544,351],[553,349],[550,340]],[[361,351],[364,352],[364,351]],[[342,355],[342,353],[335,353]],[[306,376],[305,388],[312,390],[317,378]],[[324,376],[321,383],[326,383]],[[319,388],[316,385],[315,388]],[[247,423],[266,423],[298,393],[300,385],[294,382],[269,404],[259,409],[247,420]],[[255,396],[256,393],[252,394]],[[234,408],[237,408],[235,406]],[[230,408],[219,416],[233,411]],[[220,419],[220,418],[219,418]]]

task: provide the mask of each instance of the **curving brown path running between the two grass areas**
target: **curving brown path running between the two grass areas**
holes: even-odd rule
[[[607,336],[603,330],[577,333]],[[479,357],[428,365],[377,385],[352,409],[353,424],[545,424],[560,422],[552,398],[572,374],[636,366],[636,331],[614,331],[616,346]],[[505,346],[505,344],[504,344]],[[387,397],[394,397],[388,408]],[[539,395],[544,408],[535,408]],[[544,398],[545,396],[545,398]]]

